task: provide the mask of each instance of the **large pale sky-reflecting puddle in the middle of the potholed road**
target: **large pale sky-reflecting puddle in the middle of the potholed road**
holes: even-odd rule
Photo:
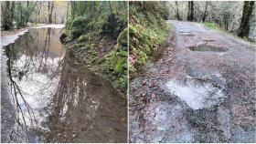
[[[165,86],[193,109],[210,108],[224,96],[221,88],[197,79],[173,79],[167,81]]]

